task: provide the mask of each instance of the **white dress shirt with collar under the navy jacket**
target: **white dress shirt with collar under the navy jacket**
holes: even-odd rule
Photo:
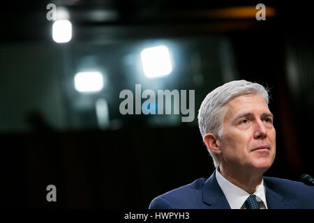
[[[218,168],[216,169],[216,179],[218,185],[223,191],[223,194],[225,194],[225,198],[227,199],[230,208],[245,209],[244,202],[246,201],[246,199],[248,199],[250,194],[248,194],[248,192],[246,192],[245,190],[242,190],[240,187],[237,187],[229,180],[225,179],[219,173]],[[262,183],[260,183],[260,185],[256,187],[256,190],[253,194],[256,195],[257,201],[259,201],[259,199],[260,201],[262,201],[260,202],[260,209],[267,209],[264,180],[262,180]]]

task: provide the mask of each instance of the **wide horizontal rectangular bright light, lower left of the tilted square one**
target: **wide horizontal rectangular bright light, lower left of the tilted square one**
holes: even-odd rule
[[[74,77],[76,91],[96,92],[103,89],[103,75],[100,72],[78,72]]]

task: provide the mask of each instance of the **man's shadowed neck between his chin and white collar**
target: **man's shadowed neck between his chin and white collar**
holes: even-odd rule
[[[242,190],[253,194],[260,183],[262,183],[263,173],[251,173],[248,171],[230,171],[227,168],[218,167],[219,173]]]

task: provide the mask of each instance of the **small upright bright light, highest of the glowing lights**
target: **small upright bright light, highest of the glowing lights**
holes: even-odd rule
[[[57,20],[52,25],[52,38],[57,43],[68,43],[72,38],[72,24],[68,20]]]

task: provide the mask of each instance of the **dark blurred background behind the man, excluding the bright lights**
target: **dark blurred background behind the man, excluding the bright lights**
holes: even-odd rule
[[[68,9],[73,24],[69,43],[52,40],[48,3]],[[254,13],[223,13],[228,8],[255,8],[257,3],[276,13],[265,21],[257,21]],[[234,79],[271,89],[277,151],[265,175],[291,180],[304,173],[313,176],[312,17],[311,7],[299,2],[3,4],[1,207],[148,208],[157,195],[208,178],[214,165],[202,144],[197,111],[207,93]],[[159,43],[171,46],[174,70],[167,77],[145,79],[137,69],[138,54]],[[73,77],[84,66],[105,70],[103,91],[88,95],[75,91]],[[134,92],[135,84],[142,84],[142,91],[194,89],[195,120],[122,116],[119,92]],[[109,107],[105,128],[97,123],[98,98]],[[50,184],[57,187],[55,203],[46,200]]]

